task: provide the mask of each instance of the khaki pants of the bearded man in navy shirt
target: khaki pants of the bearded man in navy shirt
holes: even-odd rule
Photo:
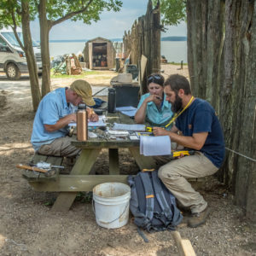
[[[189,207],[192,213],[202,212],[207,201],[191,187],[188,177],[205,177],[217,172],[218,168],[199,151],[194,155],[171,160],[161,166],[158,176],[183,207]]]

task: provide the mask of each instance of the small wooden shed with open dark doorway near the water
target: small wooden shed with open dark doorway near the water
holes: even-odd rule
[[[85,43],[84,61],[90,69],[110,69],[115,66],[115,49],[110,40],[94,38]]]

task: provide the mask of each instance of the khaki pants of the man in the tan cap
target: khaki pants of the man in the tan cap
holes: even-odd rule
[[[71,144],[71,137],[60,137],[55,139],[52,143],[44,144],[38,149],[39,154],[55,155],[55,156],[77,156],[81,149],[76,148]]]

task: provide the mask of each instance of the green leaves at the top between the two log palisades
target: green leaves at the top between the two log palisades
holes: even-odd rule
[[[158,1],[153,0],[154,6]],[[160,0],[161,22],[163,25],[175,25],[186,20],[186,3],[183,0]]]

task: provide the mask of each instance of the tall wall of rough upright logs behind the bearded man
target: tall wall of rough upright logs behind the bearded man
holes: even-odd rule
[[[187,14],[193,94],[212,103],[224,128],[226,160],[218,175],[256,220],[256,2],[188,0]]]

